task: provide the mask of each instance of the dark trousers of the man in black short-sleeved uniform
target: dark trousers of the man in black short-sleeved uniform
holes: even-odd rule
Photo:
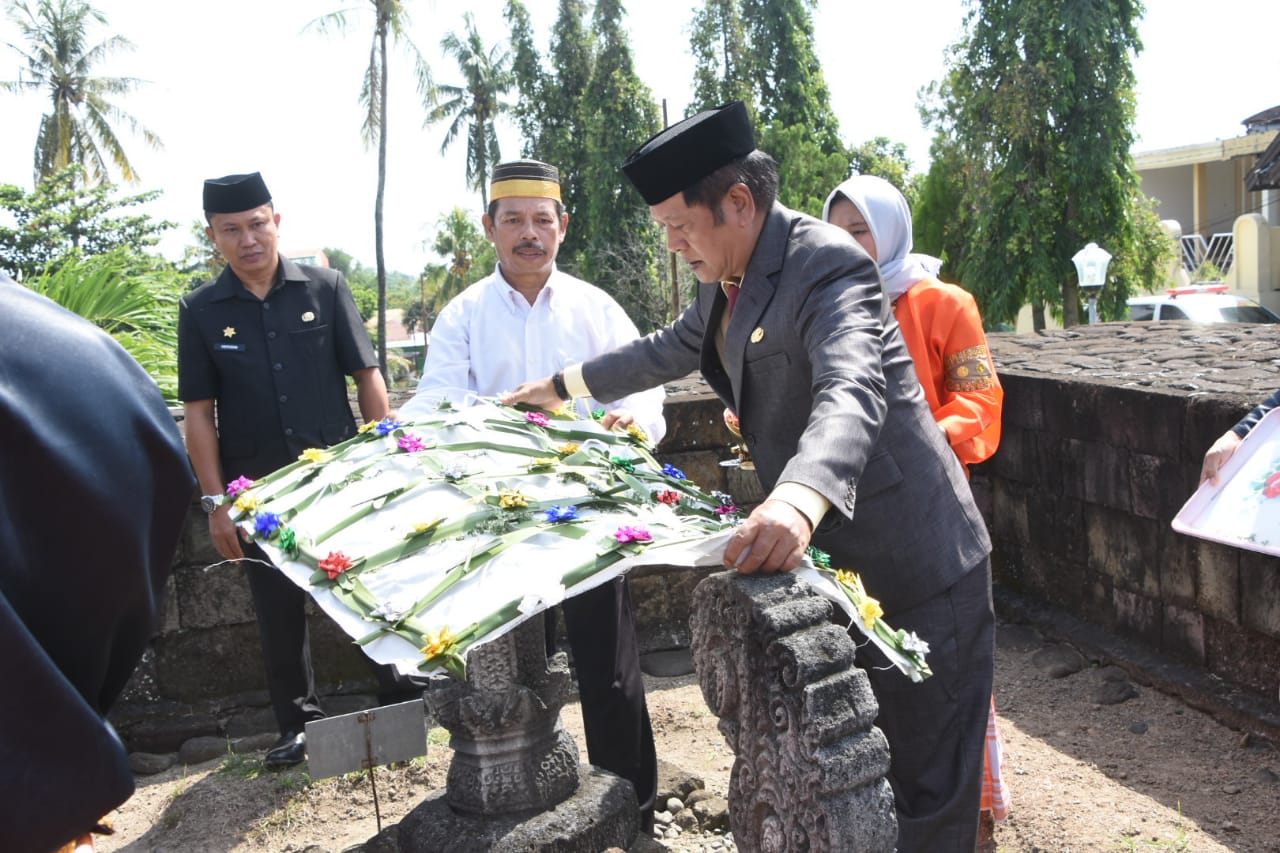
[[[266,665],[266,689],[280,734],[297,734],[311,720],[324,717],[316,697],[315,674],[311,670],[311,633],[307,628],[307,593],[279,569],[251,562],[270,564],[253,543],[243,544],[257,630]],[[365,658],[367,661],[367,658]],[[421,698],[425,680],[402,676],[396,667],[369,661],[378,681],[378,703],[392,704]]]

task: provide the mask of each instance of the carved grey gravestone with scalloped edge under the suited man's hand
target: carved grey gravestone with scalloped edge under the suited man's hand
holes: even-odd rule
[[[897,818],[878,704],[831,603],[790,574],[694,592],[694,666],[735,754],[730,824],[759,853],[890,853]]]

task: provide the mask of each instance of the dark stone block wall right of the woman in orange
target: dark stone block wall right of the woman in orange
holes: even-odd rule
[[[993,336],[1000,451],[973,471],[997,585],[1275,695],[1280,560],[1175,533],[1212,442],[1280,387],[1280,329]]]

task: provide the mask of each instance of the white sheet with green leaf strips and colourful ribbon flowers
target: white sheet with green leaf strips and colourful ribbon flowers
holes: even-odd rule
[[[365,424],[205,501],[230,502],[370,658],[415,675],[461,676],[467,649],[632,567],[719,565],[739,521],[730,496],[658,462],[639,429],[492,400]],[[928,675],[927,648],[904,651],[856,575],[814,553],[809,583],[911,678]]]

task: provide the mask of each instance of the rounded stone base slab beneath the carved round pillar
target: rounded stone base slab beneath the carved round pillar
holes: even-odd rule
[[[444,792],[364,847],[365,853],[599,853],[627,849],[640,831],[631,783],[582,765],[577,793],[535,815],[460,815]]]

